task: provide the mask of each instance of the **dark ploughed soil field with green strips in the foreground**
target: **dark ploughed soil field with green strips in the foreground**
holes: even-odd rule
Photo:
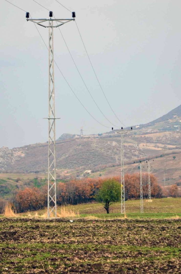
[[[181,273],[181,219],[0,219],[0,273]]]

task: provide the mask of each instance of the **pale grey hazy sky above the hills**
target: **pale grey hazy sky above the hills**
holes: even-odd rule
[[[9,0],[48,18],[33,0]],[[83,41],[110,105],[127,126],[152,121],[181,104],[180,0],[59,0],[76,12]],[[37,0],[56,18],[71,13],[55,0]],[[48,139],[48,51],[25,12],[1,0],[0,147]],[[48,28],[38,26],[48,45]],[[75,22],[61,27],[69,50],[92,96],[105,116],[121,126],[106,102],[90,66]],[[70,86],[101,123],[112,127],[97,109],[54,28],[54,59]],[[106,132],[84,110],[55,66],[56,138],[63,133]]]

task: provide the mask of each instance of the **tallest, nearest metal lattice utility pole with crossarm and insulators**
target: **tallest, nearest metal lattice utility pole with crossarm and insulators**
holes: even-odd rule
[[[29,19],[27,21],[49,28],[49,89],[48,89],[48,211],[47,217],[57,217],[57,195],[56,195],[56,147],[55,147],[55,96],[54,96],[54,52],[53,52],[53,28],[60,27],[65,23],[75,20],[75,12],[71,19],[52,19],[53,12],[49,12],[50,19]],[[46,24],[48,22],[48,25]],[[54,26],[53,23],[56,23]]]

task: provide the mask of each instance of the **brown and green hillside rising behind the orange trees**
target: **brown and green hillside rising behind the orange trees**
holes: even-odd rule
[[[166,159],[166,184],[179,181],[181,176],[181,131],[174,127],[181,119],[181,105],[166,115],[148,123],[133,127],[124,135],[125,172],[139,172],[139,159],[155,159],[151,172],[163,184]],[[166,127],[167,131],[163,130]],[[25,184],[40,186],[47,177],[47,143],[37,143],[8,149],[0,148],[0,194],[8,196],[12,189]],[[176,159],[173,160],[173,153]],[[166,155],[165,157],[160,157]],[[120,135],[106,132],[99,135],[63,134],[56,141],[57,179],[80,176],[114,176],[120,174]],[[165,159],[164,159],[165,158]],[[13,173],[12,176],[9,173]],[[16,182],[22,176],[22,181]],[[38,174],[39,181],[35,173]],[[15,175],[14,175],[15,174]],[[19,175],[18,175],[19,174]],[[31,175],[32,174],[32,175]],[[8,179],[8,178],[13,178]],[[2,180],[5,180],[2,181]],[[32,181],[34,180],[34,181]]]

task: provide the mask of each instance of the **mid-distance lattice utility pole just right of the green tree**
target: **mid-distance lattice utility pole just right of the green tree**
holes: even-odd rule
[[[121,127],[121,130],[117,131],[117,133],[121,136],[121,213],[125,213],[125,187],[124,187],[124,142],[123,142],[123,135],[131,130],[123,130]],[[113,130],[113,127],[112,127]]]

